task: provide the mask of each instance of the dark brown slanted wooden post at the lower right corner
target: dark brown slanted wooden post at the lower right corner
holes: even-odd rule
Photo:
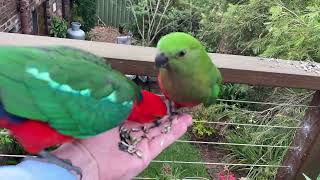
[[[284,157],[283,166],[279,168],[277,180],[305,180],[303,173],[311,179],[320,174],[320,91],[316,91],[307,110],[302,129],[299,129]]]

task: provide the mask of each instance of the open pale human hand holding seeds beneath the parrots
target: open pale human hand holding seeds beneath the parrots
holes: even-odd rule
[[[166,121],[163,118],[162,121]],[[192,124],[190,115],[175,117],[171,131],[161,133],[161,127],[152,129],[148,139],[143,139],[137,149],[143,153],[142,159],[120,151],[119,128],[114,128],[99,136],[62,145],[54,154],[69,159],[74,166],[82,169],[82,180],[129,180],[141,173],[165,148],[179,139]],[[125,126],[138,127],[141,124],[126,122]]]

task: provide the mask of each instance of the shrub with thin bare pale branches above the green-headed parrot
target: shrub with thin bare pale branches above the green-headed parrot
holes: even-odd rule
[[[200,12],[186,0],[128,0],[134,24],[127,25],[140,44],[153,46],[161,36],[173,31],[195,34]]]

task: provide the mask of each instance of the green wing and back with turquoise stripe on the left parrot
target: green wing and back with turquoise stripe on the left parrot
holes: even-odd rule
[[[86,138],[114,128],[141,98],[102,58],[68,47],[0,47],[0,100],[6,111]]]

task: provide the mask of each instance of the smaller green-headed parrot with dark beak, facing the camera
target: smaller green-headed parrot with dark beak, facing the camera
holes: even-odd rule
[[[159,40],[157,49],[159,86],[176,108],[215,103],[222,83],[221,73],[196,38],[183,32],[170,33]]]

